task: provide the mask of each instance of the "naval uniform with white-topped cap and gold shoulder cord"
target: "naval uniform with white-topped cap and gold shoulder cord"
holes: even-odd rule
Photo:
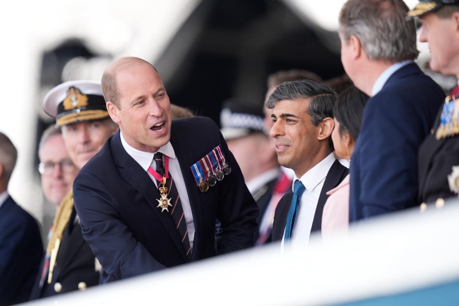
[[[49,90],[44,97],[43,110],[56,118],[58,126],[101,121],[109,117],[100,83],[84,80],[65,82]],[[83,238],[70,191],[62,200],[54,219],[31,298],[86,290],[99,283],[100,270],[94,253]]]

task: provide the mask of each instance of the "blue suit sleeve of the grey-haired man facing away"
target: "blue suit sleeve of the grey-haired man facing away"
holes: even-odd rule
[[[384,93],[367,104],[357,144],[359,157],[355,160],[363,218],[416,203],[417,152],[425,131],[420,116],[414,115],[414,104],[406,99]]]

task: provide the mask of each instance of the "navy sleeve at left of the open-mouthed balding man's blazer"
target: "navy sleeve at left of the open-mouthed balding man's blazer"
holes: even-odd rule
[[[104,282],[165,268],[121,221],[117,200],[99,178],[80,172],[73,183],[73,198],[83,237],[96,254],[104,275],[108,274]]]

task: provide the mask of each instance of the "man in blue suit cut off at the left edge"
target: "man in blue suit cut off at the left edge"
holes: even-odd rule
[[[0,305],[29,299],[43,255],[37,221],[7,191],[16,159],[16,148],[0,133]]]

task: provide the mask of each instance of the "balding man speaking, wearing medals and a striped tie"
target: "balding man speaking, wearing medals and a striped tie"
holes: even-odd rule
[[[120,131],[80,171],[73,196],[104,281],[252,246],[258,208],[216,124],[172,121],[158,71],[139,58],[109,66],[102,88]]]

